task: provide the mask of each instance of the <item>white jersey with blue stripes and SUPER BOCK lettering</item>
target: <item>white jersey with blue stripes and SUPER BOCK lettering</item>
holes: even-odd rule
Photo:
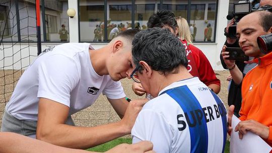
[[[227,113],[220,98],[197,77],[175,82],[145,104],[132,142],[153,142],[156,152],[222,152]]]

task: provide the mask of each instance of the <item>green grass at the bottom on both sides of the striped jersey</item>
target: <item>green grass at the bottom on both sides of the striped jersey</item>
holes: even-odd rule
[[[117,138],[114,139],[112,141],[109,141],[107,143],[89,148],[87,150],[89,151],[98,151],[98,152],[104,152],[109,150],[110,148],[113,148],[114,146],[121,144],[121,143],[132,143],[132,139],[131,138]],[[229,153],[230,152],[230,141],[227,140],[226,146],[225,146],[225,153]]]

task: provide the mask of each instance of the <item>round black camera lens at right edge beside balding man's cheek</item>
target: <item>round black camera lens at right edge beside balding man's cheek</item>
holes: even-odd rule
[[[267,54],[272,51],[272,33],[259,36],[257,42],[262,53]]]

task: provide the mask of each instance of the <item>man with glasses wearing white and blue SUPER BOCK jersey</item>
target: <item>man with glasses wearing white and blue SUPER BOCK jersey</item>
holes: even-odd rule
[[[132,41],[132,59],[131,78],[154,97],[135,121],[132,142],[150,140],[155,152],[224,151],[226,108],[188,72],[180,40],[169,29],[141,31]]]

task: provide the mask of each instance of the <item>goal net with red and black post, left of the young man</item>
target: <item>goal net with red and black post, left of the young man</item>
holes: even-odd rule
[[[0,119],[22,73],[39,53],[40,1],[0,1]]]

